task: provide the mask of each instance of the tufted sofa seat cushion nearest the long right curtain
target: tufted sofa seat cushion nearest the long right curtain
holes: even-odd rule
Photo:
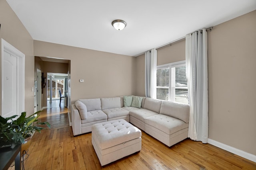
[[[168,135],[177,131],[188,128],[188,123],[168,115],[157,114],[154,116],[146,117],[145,124],[151,125]]]

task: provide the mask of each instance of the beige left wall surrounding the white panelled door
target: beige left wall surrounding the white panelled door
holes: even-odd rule
[[[0,39],[4,39],[16,49],[25,54],[25,111],[28,115],[34,113],[34,55],[33,39],[22,25],[16,14],[7,4],[6,0],[0,0]],[[1,44],[1,42],[0,42]],[[1,48],[1,45],[0,45]],[[0,62],[1,62],[0,53]],[[1,64],[0,64],[1,67]],[[2,68],[0,69],[2,70]],[[0,73],[1,76],[1,73]],[[0,78],[1,80],[1,78]],[[0,85],[0,89],[2,84]],[[0,91],[1,93],[1,91]],[[0,110],[2,109],[0,98]]]

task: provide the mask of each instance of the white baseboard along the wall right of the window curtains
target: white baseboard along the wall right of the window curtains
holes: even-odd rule
[[[244,152],[244,151],[236,149],[234,147],[230,147],[230,146],[228,146],[224,143],[220,143],[220,142],[214,141],[212,139],[208,139],[208,143],[210,143],[211,145],[214,145],[218,148],[227,150],[228,152],[231,152],[231,153],[236,154],[238,156],[242,156],[243,158],[246,158],[246,159],[251,160],[253,162],[256,162],[256,155]]]

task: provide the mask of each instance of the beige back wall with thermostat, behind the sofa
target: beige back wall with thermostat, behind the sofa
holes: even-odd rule
[[[135,93],[135,57],[42,41],[34,41],[34,55],[71,61],[71,103]]]

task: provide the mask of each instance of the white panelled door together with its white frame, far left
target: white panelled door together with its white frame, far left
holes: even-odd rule
[[[2,117],[25,109],[25,55],[2,39]]]

